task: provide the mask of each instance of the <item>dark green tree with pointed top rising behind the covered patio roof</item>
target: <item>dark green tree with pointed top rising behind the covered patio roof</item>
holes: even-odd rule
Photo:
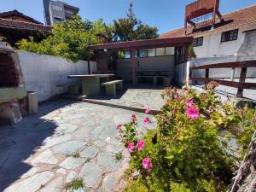
[[[157,38],[157,32],[158,29],[156,27],[145,25],[141,20],[137,20],[133,13],[132,1],[126,17],[113,20],[113,41]]]

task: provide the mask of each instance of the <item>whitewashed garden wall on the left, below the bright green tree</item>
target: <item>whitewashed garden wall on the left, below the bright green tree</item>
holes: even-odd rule
[[[39,102],[66,92],[67,89],[56,85],[76,80],[67,79],[68,75],[88,74],[88,61],[74,63],[60,56],[38,55],[23,51],[19,51],[18,55],[26,90],[37,91]],[[90,69],[96,71],[95,61],[90,61]]]

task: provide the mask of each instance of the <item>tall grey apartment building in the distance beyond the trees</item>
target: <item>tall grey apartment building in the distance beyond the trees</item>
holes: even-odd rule
[[[61,21],[71,20],[79,13],[79,8],[61,1],[44,0],[44,20],[46,25],[53,26]]]

